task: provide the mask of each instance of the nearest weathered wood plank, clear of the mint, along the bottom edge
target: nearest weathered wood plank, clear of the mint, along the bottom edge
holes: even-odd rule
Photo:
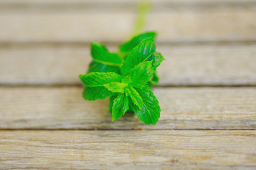
[[[0,131],[0,169],[256,169],[256,131]]]

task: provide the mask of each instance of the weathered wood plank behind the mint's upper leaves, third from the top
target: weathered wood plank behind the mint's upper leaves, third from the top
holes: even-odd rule
[[[110,47],[114,50],[114,47]],[[91,61],[88,46],[0,48],[0,84],[80,84]],[[166,60],[160,85],[256,84],[255,45],[158,45]]]

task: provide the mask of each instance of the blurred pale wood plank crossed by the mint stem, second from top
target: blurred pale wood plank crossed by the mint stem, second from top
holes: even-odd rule
[[[149,15],[146,29],[156,30],[161,42],[255,41],[255,6],[159,11]],[[119,42],[127,38],[131,32],[135,15],[134,11],[1,14],[0,40],[1,42],[88,42],[90,40]]]

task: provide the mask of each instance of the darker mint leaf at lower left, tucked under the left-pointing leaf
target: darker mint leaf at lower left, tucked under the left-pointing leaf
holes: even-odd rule
[[[87,101],[103,100],[112,95],[112,92],[107,90],[105,86],[85,87],[82,92],[82,97]]]

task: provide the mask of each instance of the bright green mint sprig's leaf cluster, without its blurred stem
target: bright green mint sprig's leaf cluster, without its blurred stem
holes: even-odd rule
[[[92,62],[87,74],[80,75],[87,101],[110,97],[112,121],[128,110],[146,125],[155,125],[160,117],[160,106],[149,87],[158,83],[156,68],[164,57],[156,52],[156,33],[135,36],[119,46],[119,52],[109,52],[99,42],[91,43]]]

